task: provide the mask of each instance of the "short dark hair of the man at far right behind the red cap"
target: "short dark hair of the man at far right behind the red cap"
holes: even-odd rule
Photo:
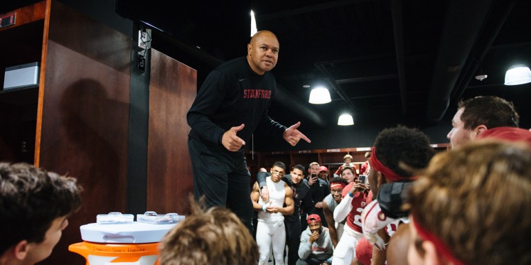
[[[458,103],[464,108],[461,120],[465,129],[470,130],[484,124],[487,128],[518,127],[519,115],[512,102],[501,97],[478,96]]]

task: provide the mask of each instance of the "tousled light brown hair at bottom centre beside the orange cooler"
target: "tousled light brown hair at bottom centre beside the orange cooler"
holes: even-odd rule
[[[192,215],[177,224],[160,244],[164,265],[256,264],[257,243],[248,228],[226,208],[203,210],[192,205]]]

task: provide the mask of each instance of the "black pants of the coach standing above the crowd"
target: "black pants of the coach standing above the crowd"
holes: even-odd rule
[[[194,197],[205,196],[205,206],[230,208],[252,235],[250,173],[243,151],[227,153],[188,138],[194,173]]]

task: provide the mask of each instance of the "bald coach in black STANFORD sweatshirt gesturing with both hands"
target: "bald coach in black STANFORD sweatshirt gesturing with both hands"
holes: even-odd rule
[[[188,149],[194,173],[194,196],[205,204],[228,206],[252,229],[250,173],[242,146],[255,130],[283,137],[295,146],[310,139],[297,128],[286,128],[268,116],[275,90],[269,72],[277,64],[279,41],[270,31],[257,32],[247,57],[227,61],[209,73],[188,110],[192,130]]]

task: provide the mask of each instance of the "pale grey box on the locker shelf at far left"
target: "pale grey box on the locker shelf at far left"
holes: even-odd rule
[[[39,86],[39,63],[25,63],[6,67],[3,90]]]

